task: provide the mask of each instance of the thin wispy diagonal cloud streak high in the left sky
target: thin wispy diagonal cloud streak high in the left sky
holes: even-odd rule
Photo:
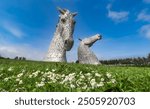
[[[21,38],[25,35],[19,27],[10,22],[3,22],[3,28],[17,38]]]

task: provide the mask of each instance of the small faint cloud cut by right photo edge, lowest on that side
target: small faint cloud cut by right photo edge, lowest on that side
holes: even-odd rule
[[[150,24],[142,26],[139,32],[142,36],[150,39]]]

